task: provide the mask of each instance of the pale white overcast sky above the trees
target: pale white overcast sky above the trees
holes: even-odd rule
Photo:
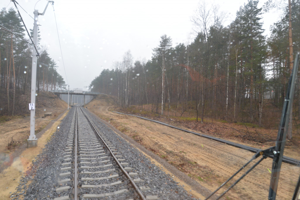
[[[262,0],[259,7],[263,5]],[[34,8],[44,11],[46,0],[17,0],[32,17]],[[212,2],[212,1],[209,1]],[[247,0],[215,0],[225,11],[228,25],[235,19],[236,11]],[[41,45],[58,65],[58,73],[70,88],[87,90],[87,86],[103,69],[111,69],[114,61],[122,61],[124,53],[131,50],[134,60],[151,59],[152,49],[157,47],[164,34],[173,40],[173,46],[187,43],[193,38],[191,16],[199,0],[54,0],[54,9],[48,6],[44,16],[39,16]],[[0,7],[14,7],[10,0],[1,0]],[[33,19],[19,7],[28,29]],[[61,50],[64,59],[64,72]],[[264,29],[278,20],[278,12],[272,10],[263,16]],[[67,76],[67,79],[66,79]]]

